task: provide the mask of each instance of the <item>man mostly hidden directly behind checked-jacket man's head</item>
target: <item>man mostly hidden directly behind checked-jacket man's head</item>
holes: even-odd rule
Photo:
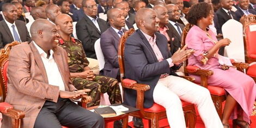
[[[47,16],[46,16],[46,13],[45,13],[45,9],[42,8],[42,7],[34,7],[34,8],[32,8],[30,14],[32,15],[34,20],[37,20],[37,19],[47,19]],[[34,21],[29,21],[26,24],[26,27],[27,27],[28,30],[30,30],[31,25],[32,25],[33,22]],[[29,35],[31,35],[31,33],[29,33]]]

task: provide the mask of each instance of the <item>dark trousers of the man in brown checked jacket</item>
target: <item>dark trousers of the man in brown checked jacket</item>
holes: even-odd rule
[[[35,128],[61,128],[67,127],[105,127],[101,115],[90,112],[69,99],[58,99],[58,102],[46,101],[36,117]]]

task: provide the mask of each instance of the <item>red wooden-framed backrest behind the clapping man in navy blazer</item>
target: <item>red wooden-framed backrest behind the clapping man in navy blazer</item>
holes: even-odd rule
[[[123,36],[121,36],[119,46],[118,46],[118,62],[119,62],[119,68],[120,68],[120,79],[121,81],[124,78],[125,73],[125,66],[124,66],[124,48],[125,48],[125,42],[127,38],[134,32],[134,29],[131,28],[129,31],[126,31]]]

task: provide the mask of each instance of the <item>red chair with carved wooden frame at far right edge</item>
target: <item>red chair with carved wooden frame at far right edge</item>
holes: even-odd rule
[[[256,31],[250,31],[250,26],[256,25],[256,15],[250,15],[245,18],[243,23],[243,42],[245,43],[245,61],[246,63],[256,63]],[[256,81],[256,64],[249,66],[247,75]]]

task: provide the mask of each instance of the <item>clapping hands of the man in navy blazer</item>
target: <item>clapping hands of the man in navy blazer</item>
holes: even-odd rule
[[[180,48],[173,54],[171,57],[173,60],[173,63],[175,65],[180,64],[181,62],[184,62],[187,58],[191,56],[191,54],[194,52],[194,50],[186,50],[187,45],[185,45],[181,50]]]

